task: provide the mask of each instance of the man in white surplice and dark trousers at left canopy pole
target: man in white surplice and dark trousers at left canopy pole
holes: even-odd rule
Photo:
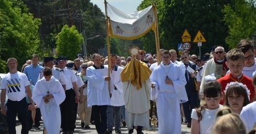
[[[101,64],[101,57],[98,53],[92,55],[94,65],[86,70],[88,79],[87,106],[91,108],[94,117],[95,127],[98,133],[107,131],[107,106],[110,105],[110,89],[114,89],[111,81],[111,74],[108,76],[108,66]]]

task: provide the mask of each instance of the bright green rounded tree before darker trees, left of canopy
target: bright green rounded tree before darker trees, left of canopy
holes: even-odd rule
[[[65,56],[68,60],[76,58],[77,53],[81,50],[81,44],[84,43],[82,34],[79,34],[76,27],[71,28],[64,25],[61,32],[56,36],[56,51],[59,56]]]

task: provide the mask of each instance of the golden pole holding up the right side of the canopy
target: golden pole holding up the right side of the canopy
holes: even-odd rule
[[[159,32],[158,32],[158,20],[157,20],[157,10],[156,10],[156,3],[153,3],[153,11],[155,16],[155,40],[156,40],[156,55],[157,55],[157,63],[160,64],[160,43],[159,43]]]

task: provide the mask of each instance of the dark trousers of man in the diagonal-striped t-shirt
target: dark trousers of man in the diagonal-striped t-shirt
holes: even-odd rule
[[[18,113],[18,118],[22,125],[21,134],[28,134],[28,103],[26,97],[20,101],[7,100],[7,111],[6,118],[8,124],[8,133],[16,134],[16,115]]]

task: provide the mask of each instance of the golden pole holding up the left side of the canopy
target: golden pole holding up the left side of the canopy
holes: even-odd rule
[[[111,60],[110,60],[110,43],[109,43],[109,17],[108,17],[108,12],[107,12],[107,1],[104,0],[105,4],[105,15],[106,15],[106,28],[107,28],[107,41],[108,41],[108,76],[110,77],[110,69],[111,69]],[[110,91],[110,81],[109,81],[109,96],[111,98],[111,91]]]

